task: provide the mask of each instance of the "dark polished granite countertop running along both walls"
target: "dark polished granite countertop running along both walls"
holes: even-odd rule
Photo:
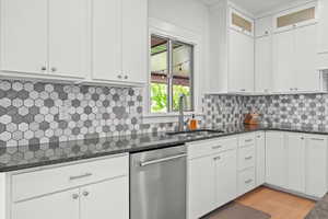
[[[140,152],[178,146],[190,141],[258,130],[283,130],[328,135],[328,129],[325,128],[292,127],[283,125],[230,125],[211,128],[223,130],[223,132],[195,135],[192,137],[167,136],[165,132],[157,132],[0,148],[0,172],[17,171],[124,152]]]

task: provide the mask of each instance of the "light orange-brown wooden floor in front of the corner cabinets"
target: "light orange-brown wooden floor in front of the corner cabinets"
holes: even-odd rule
[[[313,200],[267,187],[259,187],[236,201],[267,212],[271,219],[303,219],[315,205]]]

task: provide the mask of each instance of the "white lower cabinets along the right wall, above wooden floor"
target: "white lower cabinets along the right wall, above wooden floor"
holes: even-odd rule
[[[267,183],[316,198],[327,193],[327,137],[268,131]]]

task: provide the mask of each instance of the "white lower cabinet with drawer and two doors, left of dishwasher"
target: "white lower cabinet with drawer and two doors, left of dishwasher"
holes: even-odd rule
[[[103,165],[107,173],[102,172]],[[86,173],[87,169],[93,171]],[[70,176],[65,177],[66,173]],[[129,219],[128,155],[13,173],[9,178],[8,199],[12,203],[8,219]],[[44,180],[48,180],[47,184],[39,183]],[[36,185],[33,188],[24,184],[32,181]],[[49,186],[51,182],[56,182],[57,189]],[[28,189],[35,193],[21,193]]]

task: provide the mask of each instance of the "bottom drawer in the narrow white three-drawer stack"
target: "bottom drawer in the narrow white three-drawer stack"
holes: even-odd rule
[[[243,195],[255,188],[255,169],[250,168],[238,173],[238,194]]]

